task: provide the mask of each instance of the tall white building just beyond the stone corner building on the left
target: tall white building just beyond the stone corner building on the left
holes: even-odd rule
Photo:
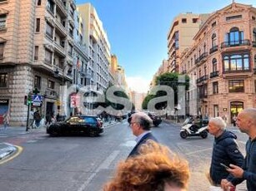
[[[108,35],[96,9],[90,3],[78,5],[78,12],[86,23],[83,30],[84,42],[88,45],[88,70],[92,76],[91,84],[97,86],[97,91],[103,92],[108,88],[111,62]]]

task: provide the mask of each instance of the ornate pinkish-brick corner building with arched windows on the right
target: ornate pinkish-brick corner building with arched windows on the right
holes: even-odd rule
[[[230,122],[243,108],[256,107],[255,20],[255,7],[232,2],[208,17],[183,52],[180,71],[190,76],[188,100],[197,100],[198,114]]]

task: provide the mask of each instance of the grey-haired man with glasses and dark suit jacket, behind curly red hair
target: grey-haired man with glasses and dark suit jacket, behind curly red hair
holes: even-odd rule
[[[150,117],[144,112],[134,113],[132,115],[130,121],[130,127],[133,130],[133,135],[137,136],[136,142],[137,144],[128,155],[128,157],[132,157],[134,155],[139,154],[138,149],[142,144],[145,144],[147,140],[154,140],[158,142],[158,140],[152,135],[150,128],[153,124]]]

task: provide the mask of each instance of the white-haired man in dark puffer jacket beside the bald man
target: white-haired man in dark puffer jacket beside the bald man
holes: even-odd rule
[[[233,177],[221,164],[243,165],[243,154],[238,149],[237,136],[226,130],[226,123],[221,117],[209,120],[208,131],[214,135],[213,154],[210,167],[210,177],[213,183],[220,186],[223,179]]]

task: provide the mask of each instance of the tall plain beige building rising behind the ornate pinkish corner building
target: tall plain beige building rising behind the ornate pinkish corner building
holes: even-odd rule
[[[193,44],[193,37],[208,14],[179,14],[168,32],[168,71],[178,72],[181,53]]]

